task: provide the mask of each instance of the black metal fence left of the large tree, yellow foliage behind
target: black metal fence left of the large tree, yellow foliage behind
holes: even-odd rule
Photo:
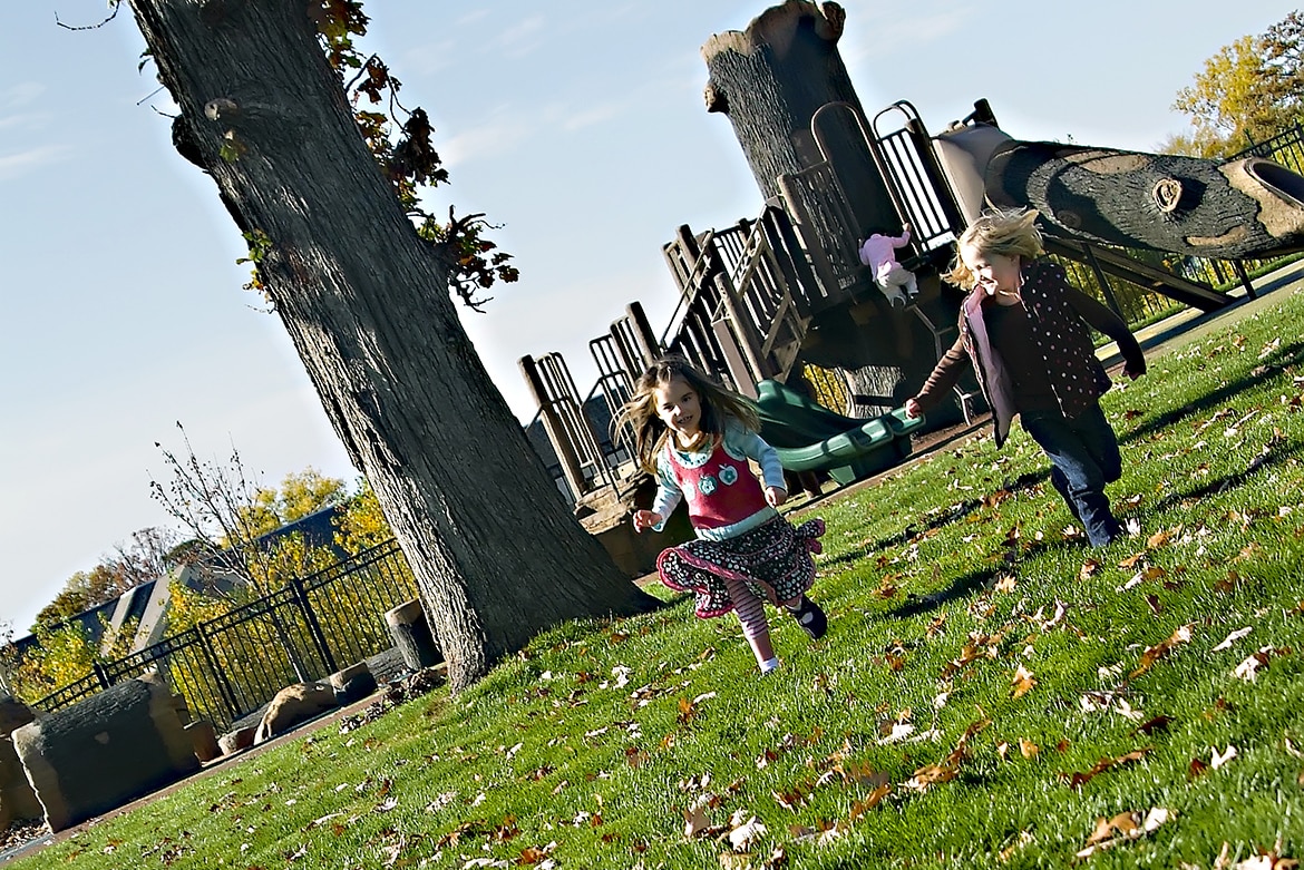
[[[200,623],[91,675],[34,706],[52,712],[158,669],[192,716],[223,729],[284,686],[321,680],[391,646],[385,611],[416,598],[416,581],[389,540],[216,619]]]

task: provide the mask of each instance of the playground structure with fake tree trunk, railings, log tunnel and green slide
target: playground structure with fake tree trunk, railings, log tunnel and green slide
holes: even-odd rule
[[[1304,177],[1258,156],[1218,164],[1020,142],[986,100],[938,134],[905,100],[868,119],[837,59],[842,17],[832,3],[788,0],[703,48],[708,111],[730,116],[765,199],[752,220],[700,233],[682,225],[662,245],[679,293],[669,324],[653,330],[629,303],[589,341],[599,376],[584,399],[559,354],[520,359],[561,477],[595,533],[622,524],[651,488],[644,481],[639,491],[630,434],[604,438],[589,409],[601,405],[609,421],[665,353],[756,400],[762,435],[788,471],[846,484],[908,457],[923,423],[898,406],[953,341],[962,296],[939,274],[985,206],[1042,211],[1047,253],[1129,322],[1140,318],[1123,310],[1123,289],[1158,311],[1231,303],[1189,275],[1196,258],[1230,259],[1253,296],[1243,259],[1304,247]],[[805,77],[799,89],[785,83],[794,76]],[[748,108],[752,94],[782,103],[794,129],[758,133],[754,117],[739,120],[776,115]],[[868,227],[906,221],[902,264],[919,294],[901,310],[879,293],[858,246]],[[971,419],[981,402],[975,384],[961,383],[953,410],[927,426]],[[631,560],[631,573],[643,568]]]

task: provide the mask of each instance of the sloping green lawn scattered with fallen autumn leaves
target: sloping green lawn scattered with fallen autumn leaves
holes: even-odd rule
[[[1304,296],[1275,297],[1106,397],[1134,538],[1065,537],[1037,447],[975,436],[815,508],[831,629],[810,643],[776,616],[771,676],[685,599],[563,625],[459,697],[316,732],[17,866],[1065,866],[1098,819],[1151,809],[1167,822],[1082,863],[1304,856]],[[690,837],[694,805],[711,827]]]

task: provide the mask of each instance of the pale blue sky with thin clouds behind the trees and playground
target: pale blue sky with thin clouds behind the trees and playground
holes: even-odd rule
[[[700,47],[763,0],[369,0],[363,48],[422,105],[451,184],[436,211],[485,212],[518,284],[463,313],[523,421],[523,356],[565,354],[631,301],[662,328],[661,245],[725,228],[762,195],[729,121],[704,111]],[[909,100],[930,132],[990,100],[1021,139],[1154,151],[1205,61],[1292,10],[1270,0],[845,0],[840,51],[868,113]],[[156,443],[237,449],[266,486],[313,468],[355,481],[283,327],[241,289],[239,231],[171,147],[173,107],[128,9],[0,4],[0,625],[22,634],[132,533],[176,526],[150,498]]]

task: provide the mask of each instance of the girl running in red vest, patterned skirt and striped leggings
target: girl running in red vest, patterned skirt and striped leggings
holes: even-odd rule
[[[696,539],[657,559],[661,581],[691,590],[702,619],[738,613],[762,673],[778,667],[763,599],[782,606],[812,639],[828,620],[806,598],[815,581],[823,520],[798,527],[776,508],[788,500],[775,448],[756,430],[756,410],[712,383],[683,359],[666,357],[643,372],[617,426],[634,428],[635,453],[657,479],[651,511],[634,512],[634,527],[661,530],[686,499]],[[764,484],[747,460],[760,464]]]

